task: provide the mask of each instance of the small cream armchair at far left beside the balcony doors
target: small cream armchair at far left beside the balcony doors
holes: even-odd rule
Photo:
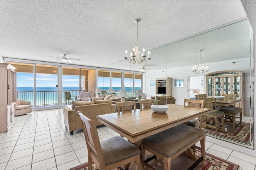
[[[24,115],[26,113],[31,113],[31,112],[32,112],[31,102],[26,100],[20,100],[20,99],[17,99],[17,101],[14,102],[15,116]]]

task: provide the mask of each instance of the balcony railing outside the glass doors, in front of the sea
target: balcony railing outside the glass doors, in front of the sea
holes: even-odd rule
[[[79,96],[79,90],[62,91],[62,106],[68,104],[65,103],[64,92],[70,92],[72,98],[74,98],[74,96]],[[114,90],[114,92],[117,95],[119,90]],[[132,96],[132,90],[126,90],[126,93],[128,97]],[[102,90],[102,94],[106,94],[106,90]],[[34,92],[17,92],[17,99],[30,101],[34,106]],[[53,106],[58,106],[58,91],[36,91],[36,108]]]

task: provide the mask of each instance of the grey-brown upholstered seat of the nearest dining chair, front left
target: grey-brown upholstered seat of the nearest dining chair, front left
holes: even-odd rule
[[[120,136],[106,139],[105,141],[102,141],[100,145],[105,158],[105,165],[119,162],[140,154],[140,150],[135,145]]]

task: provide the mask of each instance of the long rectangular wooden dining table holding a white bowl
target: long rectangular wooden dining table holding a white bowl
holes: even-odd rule
[[[167,104],[166,106],[169,106],[169,108],[164,113],[156,113],[148,107],[120,113],[98,115],[97,118],[100,123],[126,137],[136,147],[140,147],[144,138],[186,123],[194,118],[202,117],[210,110],[176,104]],[[128,167],[126,166],[126,168]]]

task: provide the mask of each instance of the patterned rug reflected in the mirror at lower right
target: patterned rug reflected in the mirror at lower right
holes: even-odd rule
[[[231,139],[233,141],[244,143],[246,145],[250,143],[250,123],[242,123],[242,127],[238,125],[238,127],[236,127],[235,133],[232,132],[231,124],[224,123],[224,127],[228,127],[229,131],[224,133],[222,133],[221,131],[218,131],[217,134],[219,137]],[[215,129],[205,129],[205,130],[206,130],[206,134],[215,136]]]

